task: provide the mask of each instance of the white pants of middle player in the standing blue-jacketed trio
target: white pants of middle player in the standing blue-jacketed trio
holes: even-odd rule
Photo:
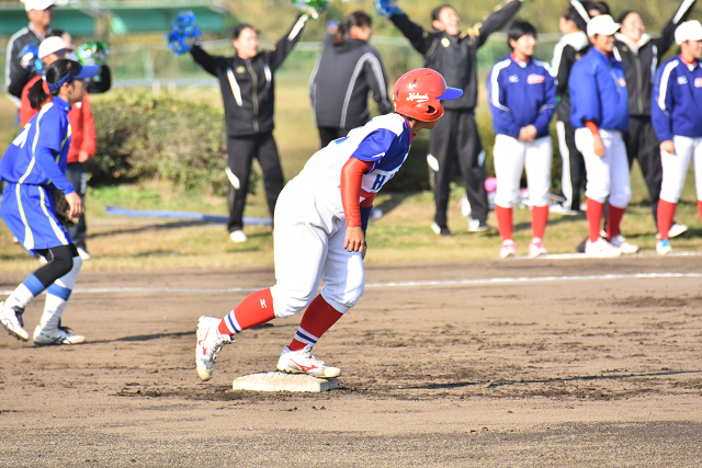
[[[610,197],[610,204],[626,208],[632,198],[629,180],[626,147],[621,132],[600,129],[604,144],[604,157],[595,153],[595,138],[588,128],[575,130],[575,145],[585,158],[587,184],[585,196],[599,203]]]

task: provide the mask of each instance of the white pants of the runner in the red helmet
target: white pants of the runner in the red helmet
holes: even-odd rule
[[[346,219],[335,216],[301,178],[293,179],[275,205],[273,241],[276,284],[271,288],[275,317],[304,310],[317,296],[346,313],[363,295],[365,273],[360,252],[343,248]]]

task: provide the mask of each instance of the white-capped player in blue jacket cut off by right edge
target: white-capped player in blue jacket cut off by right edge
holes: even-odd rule
[[[680,55],[656,73],[650,114],[660,142],[663,183],[658,201],[656,251],[670,252],[669,229],[693,159],[698,212],[702,218],[702,25],[689,21],[678,26]]]

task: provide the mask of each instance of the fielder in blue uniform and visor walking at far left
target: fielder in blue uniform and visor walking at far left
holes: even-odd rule
[[[70,206],[69,217],[83,213],[81,198],[65,175],[70,148],[67,113],[71,105],[83,99],[82,79],[92,77],[98,70],[98,66],[81,67],[72,60],[54,62],[46,71],[53,102],[41,107],[0,161],[0,179],[8,182],[0,206],[2,220],[31,254],[38,253],[47,260],[0,303],[0,323],[10,334],[29,341],[22,313],[27,304],[48,288],[44,313],[34,330],[34,343],[37,345],[84,341],[84,336],[61,327],[61,315],[82,261],[56,217],[50,191],[64,192]],[[30,90],[30,102],[35,109],[39,109],[48,98],[43,85],[43,81],[38,81]]]

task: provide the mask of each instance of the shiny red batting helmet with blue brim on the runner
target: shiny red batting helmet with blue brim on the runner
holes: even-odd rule
[[[441,101],[457,99],[463,91],[446,87],[441,73],[418,68],[399,77],[393,89],[395,112],[422,122],[434,122],[443,115]]]

